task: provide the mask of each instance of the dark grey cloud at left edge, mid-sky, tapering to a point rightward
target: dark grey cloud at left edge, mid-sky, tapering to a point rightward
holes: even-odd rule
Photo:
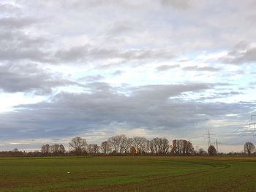
[[[39,69],[35,64],[0,65],[0,89],[5,92],[34,91],[37,94],[45,94],[58,86],[76,84]]]

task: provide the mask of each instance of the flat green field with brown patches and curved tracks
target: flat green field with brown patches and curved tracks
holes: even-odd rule
[[[256,191],[256,158],[0,158],[0,191]]]

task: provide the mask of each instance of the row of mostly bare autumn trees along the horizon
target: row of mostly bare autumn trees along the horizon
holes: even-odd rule
[[[235,155],[251,155],[255,153],[255,145],[251,142],[244,144],[244,153]],[[232,155],[233,153],[229,153]],[[192,142],[184,139],[168,139],[156,137],[148,140],[145,137],[127,137],[124,134],[116,135],[105,140],[101,145],[89,144],[82,137],[74,137],[69,142],[69,149],[62,144],[45,144],[40,150],[26,153],[15,148],[12,151],[2,151],[0,156],[53,156],[53,155],[217,155],[214,145],[208,150],[195,150]]]

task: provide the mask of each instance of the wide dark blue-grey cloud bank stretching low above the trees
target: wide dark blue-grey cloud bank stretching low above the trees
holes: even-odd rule
[[[132,88],[130,96],[118,93],[118,88],[105,83],[92,83],[88,86],[93,90],[91,93],[60,93],[53,101],[20,105],[16,107],[17,112],[0,115],[1,137],[72,137],[90,130],[100,130],[115,122],[182,134],[191,129],[200,129],[199,124],[214,117],[230,113],[243,116],[253,107],[251,103],[203,103],[168,99],[170,95],[180,95],[187,91],[203,91],[202,85]],[[7,130],[9,134],[4,134]],[[15,131],[15,134],[10,134]]]

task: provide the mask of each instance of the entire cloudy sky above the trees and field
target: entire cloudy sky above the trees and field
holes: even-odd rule
[[[0,150],[256,134],[253,0],[1,0]],[[255,143],[256,144],[256,143]]]

